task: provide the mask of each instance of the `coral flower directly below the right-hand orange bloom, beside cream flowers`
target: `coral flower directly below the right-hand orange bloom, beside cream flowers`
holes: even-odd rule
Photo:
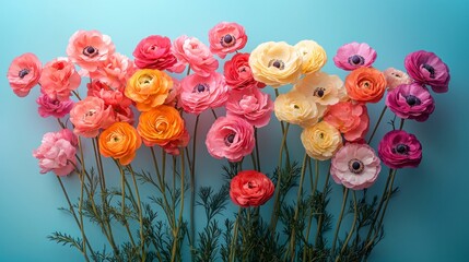
[[[324,121],[332,124],[347,141],[360,141],[365,138],[370,128],[370,117],[366,106],[352,102],[339,102],[329,106]]]

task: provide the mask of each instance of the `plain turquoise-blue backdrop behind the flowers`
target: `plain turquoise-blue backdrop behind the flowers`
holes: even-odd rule
[[[129,57],[137,43],[152,34],[172,39],[187,34],[208,43],[208,31],[221,21],[245,26],[247,51],[268,40],[294,45],[314,39],[329,56],[324,70],[341,76],[345,73],[333,67],[331,58],[338,47],[353,40],[366,41],[377,50],[375,67],[382,70],[403,69],[403,58],[414,50],[436,52],[450,68],[449,92],[434,96],[436,110],[429,121],[406,123],[406,129],[422,142],[424,158],[418,169],[398,172],[396,183],[401,190],[390,203],[386,237],[371,261],[465,261],[469,248],[467,0],[126,2],[23,0],[1,4],[0,261],[81,260],[75,250],[46,239],[55,230],[79,233],[72,218],[57,210],[67,203],[56,178],[51,174],[40,176],[37,160],[31,155],[43,134],[58,130],[57,124],[38,117],[37,88],[26,98],[12,93],[4,78],[11,60],[26,51],[36,53],[43,63],[65,56],[68,39],[78,29],[98,29],[112,36],[117,51]],[[374,121],[382,107],[383,102],[370,107]],[[390,117],[386,115],[387,120]],[[211,121],[209,116],[206,119]],[[208,124],[200,133],[207,132]],[[388,128],[383,124],[376,138]],[[290,138],[300,158],[303,150],[297,134],[298,130],[293,130]],[[269,150],[269,140],[279,139],[277,120],[260,135],[266,154],[262,166],[270,171],[278,147]],[[204,184],[221,180],[219,167],[225,162],[211,159],[202,142],[199,144],[198,181]],[[139,152],[138,164],[146,165],[146,153]],[[380,192],[383,180],[385,176],[373,192]],[[72,194],[77,192],[75,177],[67,178],[66,183]],[[335,191],[338,189],[335,186]],[[338,212],[340,195],[336,196],[331,205]],[[228,206],[236,210],[231,203]]]

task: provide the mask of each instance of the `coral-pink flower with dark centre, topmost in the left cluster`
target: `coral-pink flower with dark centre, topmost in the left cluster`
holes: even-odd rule
[[[98,31],[77,31],[70,37],[67,55],[83,70],[94,72],[115,50],[108,35]]]

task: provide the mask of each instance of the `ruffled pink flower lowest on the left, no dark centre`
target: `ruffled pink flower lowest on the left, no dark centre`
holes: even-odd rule
[[[68,129],[44,134],[40,146],[33,151],[39,159],[40,174],[54,171],[57,176],[67,176],[74,169],[77,136]]]

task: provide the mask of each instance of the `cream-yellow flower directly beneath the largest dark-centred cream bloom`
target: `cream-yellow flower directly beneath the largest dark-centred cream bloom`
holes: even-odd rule
[[[273,109],[280,121],[298,124],[303,128],[317,123],[324,109],[300,92],[289,92],[277,97]]]

